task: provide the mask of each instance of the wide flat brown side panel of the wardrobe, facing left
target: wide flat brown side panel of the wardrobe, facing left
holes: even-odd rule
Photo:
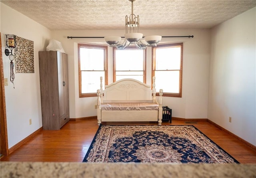
[[[59,130],[57,53],[39,51],[39,67],[43,129]]]

